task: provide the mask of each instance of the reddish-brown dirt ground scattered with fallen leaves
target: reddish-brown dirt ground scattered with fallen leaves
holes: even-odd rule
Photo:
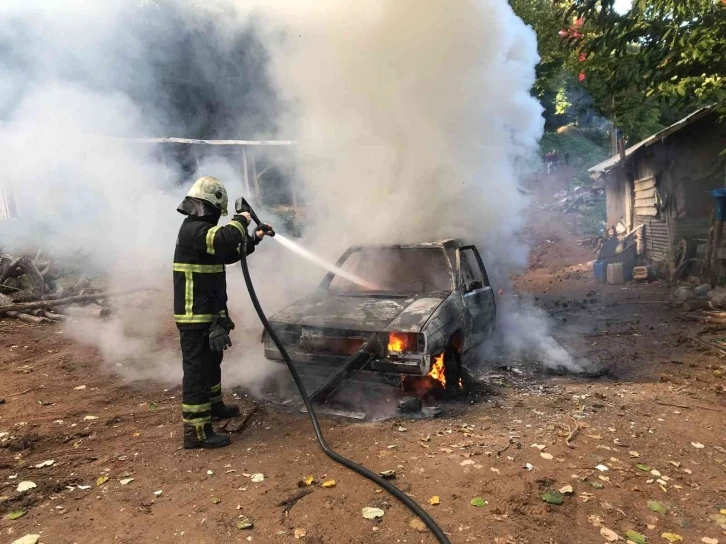
[[[533,196],[551,203],[562,180],[545,181]],[[328,441],[374,471],[395,470],[452,542],[625,542],[636,531],[649,543],[726,543],[724,362],[688,341],[696,326],[678,319],[664,284],[595,283],[579,266],[593,254],[577,243],[575,215],[535,207],[533,218],[532,266],[517,291],[609,374],[555,376],[513,361],[483,372],[487,395],[442,404],[437,419],[324,417]],[[178,387],[121,385],[59,327],[9,319],[0,376],[2,542],[434,542],[401,504],[330,461],[303,414],[265,405],[231,447],[186,451]],[[307,476],[315,483],[299,488]],[[36,487],[18,492],[23,481]],[[560,489],[562,504],[543,501]],[[473,506],[477,497],[487,504]],[[364,507],[385,515],[364,519]],[[241,516],[254,526],[239,529]]]

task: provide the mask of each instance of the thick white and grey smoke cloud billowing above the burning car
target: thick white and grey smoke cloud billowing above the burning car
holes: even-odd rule
[[[535,35],[505,0],[62,4],[0,5],[2,185],[20,215],[0,243],[81,249],[110,287],[160,290],[111,323],[68,327],[123,376],[178,380],[169,270],[189,165],[242,194],[238,157],[170,161],[124,138],[298,140],[303,244],[328,259],[350,243],[463,237],[498,285],[526,264],[518,179],[543,119]],[[278,244],[250,262],[270,312],[323,275]],[[228,273],[228,384],[270,369],[240,276]]]

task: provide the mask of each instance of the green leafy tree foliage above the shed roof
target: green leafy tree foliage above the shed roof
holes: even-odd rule
[[[626,14],[614,0],[563,4],[565,20],[582,25],[569,43],[604,94],[635,92],[677,115],[705,104],[726,109],[726,1],[635,0]]]

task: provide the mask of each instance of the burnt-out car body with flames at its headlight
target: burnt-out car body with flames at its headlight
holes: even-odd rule
[[[473,245],[353,246],[337,266],[368,285],[329,273],[314,293],[269,319],[305,372],[330,374],[375,334],[383,347],[365,370],[426,376],[446,354],[447,370],[458,376],[461,355],[494,328],[494,293]],[[265,356],[280,360],[267,334],[263,342]]]

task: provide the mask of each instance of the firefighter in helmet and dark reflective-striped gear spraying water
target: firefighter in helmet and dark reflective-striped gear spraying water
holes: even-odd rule
[[[174,319],[179,329],[184,367],[182,412],[185,448],[221,448],[229,437],[212,429],[212,419],[238,416],[236,405],[222,401],[222,354],[232,345],[234,323],[227,311],[225,265],[240,259],[243,237],[247,254],[264,238],[247,234],[250,215],[235,215],[224,226],[227,191],[218,179],[198,179],[177,211],[186,215],[174,252]]]

